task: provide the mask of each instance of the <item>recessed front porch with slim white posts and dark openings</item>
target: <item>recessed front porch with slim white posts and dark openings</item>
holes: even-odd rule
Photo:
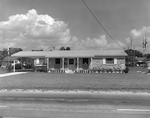
[[[67,70],[79,72],[88,70],[92,58],[47,58],[48,72],[60,73]]]

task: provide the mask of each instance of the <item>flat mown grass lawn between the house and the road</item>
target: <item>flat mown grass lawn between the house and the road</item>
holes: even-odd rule
[[[150,75],[128,74],[49,74],[29,72],[0,78],[0,89],[122,90],[150,92]]]

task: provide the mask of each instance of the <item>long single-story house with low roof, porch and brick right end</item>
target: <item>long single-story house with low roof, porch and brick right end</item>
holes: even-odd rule
[[[102,68],[125,68],[124,50],[59,50],[21,51],[16,58],[31,58],[35,68],[47,70],[89,70]]]

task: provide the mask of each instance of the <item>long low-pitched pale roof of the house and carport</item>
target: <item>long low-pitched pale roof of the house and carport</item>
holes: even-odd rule
[[[13,57],[97,57],[97,56],[127,56],[123,50],[69,50],[69,51],[21,51]]]

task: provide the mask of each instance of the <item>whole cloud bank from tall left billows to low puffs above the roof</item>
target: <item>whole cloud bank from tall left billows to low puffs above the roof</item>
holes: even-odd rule
[[[0,22],[0,46],[21,47],[23,50],[44,49],[70,46],[71,49],[118,48],[115,43],[108,43],[106,36],[78,39],[71,36],[68,24],[49,15],[38,14],[29,10],[26,14],[16,14],[7,21]],[[123,43],[119,42],[123,45]]]

